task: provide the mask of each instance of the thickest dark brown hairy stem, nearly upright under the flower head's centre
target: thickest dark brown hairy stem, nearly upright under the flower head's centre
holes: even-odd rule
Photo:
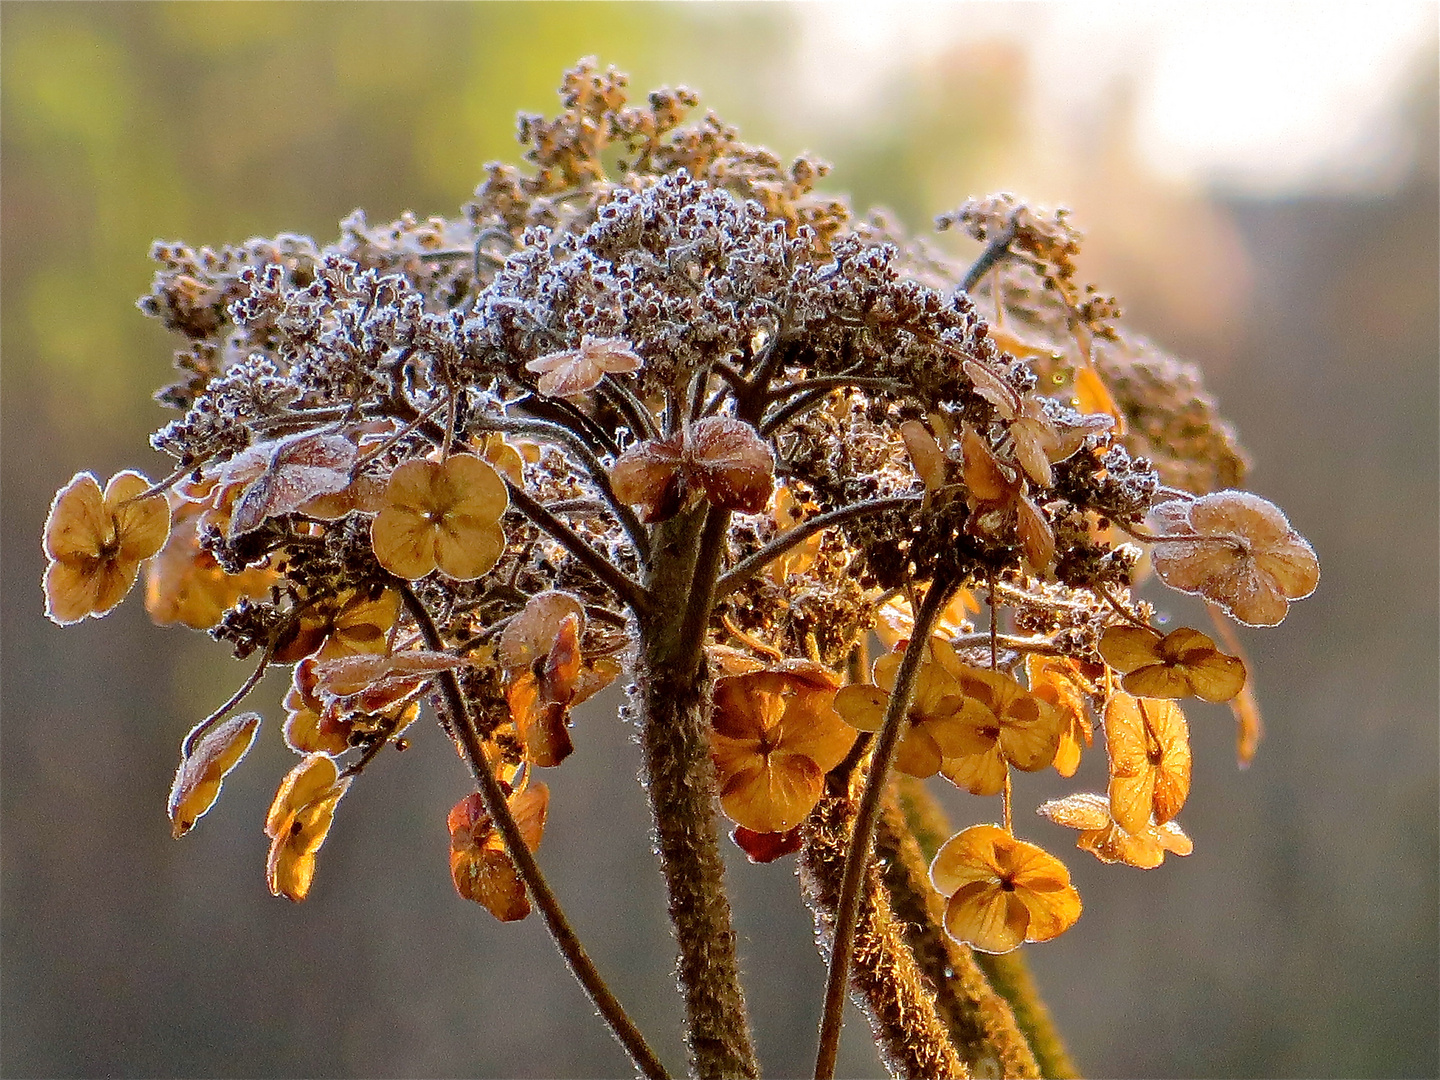
[[[700,1077],[755,1077],[759,1064],[740,991],[730,901],[714,815],[710,681],[701,615],[716,567],[704,540],[716,511],[688,513],[655,530],[652,605],[641,621],[635,700],[641,711],[645,780],[670,920],[680,950],[690,1063]],[[698,625],[697,625],[698,624]]]

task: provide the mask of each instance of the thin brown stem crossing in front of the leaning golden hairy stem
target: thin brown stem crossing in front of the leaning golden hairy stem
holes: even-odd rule
[[[815,1054],[815,1080],[831,1080],[835,1076],[840,1030],[845,1017],[850,955],[854,945],[855,920],[860,916],[860,887],[864,881],[865,864],[870,861],[870,842],[876,831],[876,818],[880,815],[880,796],[890,773],[890,762],[900,743],[904,719],[914,701],[920,657],[930,642],[930,631],[953,592],[955,582],[949,577],[937,577],[930,583],[930,590],[924,595],[920,611],[916,612],[910,644],[906,645],[904,655],[900,658],[894,688],[890,691],[890,704],[886,707],[880,737],[876,740],[876,752],[870,760],[870,775],[865,778],[860,809],[855,812],[855,834],[845,855],[845,876],[841,880],[840,903],[835,907],[835,946],[831,949],[829,975],[825,982],[825,1008],[821,1014],[819,1050]]]

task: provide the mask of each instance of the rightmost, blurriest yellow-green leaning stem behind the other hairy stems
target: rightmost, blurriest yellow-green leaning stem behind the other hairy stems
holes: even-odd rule
[[[929,861],[950,835],[950,822],[946,821],[945,811],[940,809],[923,783],[909,779],[900,783],[900,809],[922,858]],[[1034,981],[1030,978],[1024,955],[1012,952],[1005,956],[988,956],[973,953],[969,948],[952,942],[949,936],[945,936],[945,942],[952,953],[971,958],[972,968],[978,965],[984,973],[979,979],[984,996],[978,996],[976,1001],[986,1002],[985,1015],[995,1018],[991,1022],[1020,1028],[1034,1054],[1031,1068],[1038,1068],[1038,1076],[1051,1077],[1051,1080],[1077,1076],[1050,1009],[1045,1008]],[[1004,960],[1004,963],[998,963],[998,960]],[[950,968],[956,972],[962,971],[960,965],[953,960]],[[981,991],[976,992],[981,994]],[[1025,1074],[1037,1076],[1035,1071],[1030,1070]]]

